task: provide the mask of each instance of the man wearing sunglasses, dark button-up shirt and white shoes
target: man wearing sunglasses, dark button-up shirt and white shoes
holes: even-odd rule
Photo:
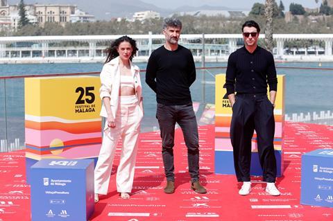
[[[277,169],[273,145],[273,110],[278,86],[274,59],[272,53],[257,45],[260,33],[257,22],[246,21],[241,30],[245,45],[231,53],[225,79],[232,107],[230,137],[234,170],[238,182],[243,182],[239,194],[248,195],[251,191],[251,140],[255,130],[266,193],[280,195],[280,191],[275,187]]]

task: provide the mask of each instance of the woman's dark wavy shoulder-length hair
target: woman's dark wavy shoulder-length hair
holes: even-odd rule
[[[119,56],[117,48],[119,47],[119,44],[121,42],[128,42],[132,46],[133,51],[132,51],[132,55],[130,55],[130,60],[132,61],[133,57],[137,53],[137,50],[139,50],[137,48],[137,42],[135,42],[135,39],[130,38],[127,35],[124,35],[122,37],[119,37],[119,38],[115,39],[111,43],[110,47],[105,49],[105,52],[108,53],[108,57],[106,57],[105,63],[108,63],[108,62],[110,62],[110,60],[112,60],[114,58],[117,58]]]

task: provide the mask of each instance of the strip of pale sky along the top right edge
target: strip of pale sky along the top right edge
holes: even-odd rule
[[[153,3],[155,6],[161,8],[178,8],[180,6],[225,6],[228,8],[247,8],[250,9],[253,6],[253,3],[259,2],[264,3],[264,0],[142,0],[146,3]],[[280,3],[280,0],[275,0]],[[306,8],[316,8],[320,6],[320,3],[316,4],[315,0],[282,0],[284,8],[289,9],[290,3],[300,3]],[[319,0],[321,2],[321,0]]]

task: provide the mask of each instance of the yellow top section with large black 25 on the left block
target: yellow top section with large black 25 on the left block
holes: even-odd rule
[[[99,118],[99,77],[25,78],[26,114],[67,120]]]

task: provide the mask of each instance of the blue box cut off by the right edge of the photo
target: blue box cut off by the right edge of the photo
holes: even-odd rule
[[[300,203],[333,207],[332,149],[318,149],[302,155]]]

